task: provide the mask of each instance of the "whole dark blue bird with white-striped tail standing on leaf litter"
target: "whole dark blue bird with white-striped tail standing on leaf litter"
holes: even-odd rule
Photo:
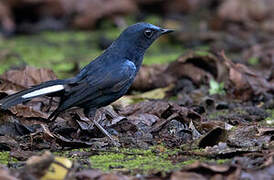
[[[47,95],[60,97],[58,108],[49,116],[55,119],[71,107],[84,109],[86,117],[113,142],[108,132],[94,120],[96,109],[123,96],[139,71],[147,48],[161,35],[172,32],[149,23],[137,23],[121,35],[95,60],[73,78],[51,80],[0,100],[7,109],[32,98]]]

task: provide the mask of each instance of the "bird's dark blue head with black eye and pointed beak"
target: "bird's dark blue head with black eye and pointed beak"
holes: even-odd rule
[[[161,35],[172,32],[149,23],[137,23],[127,27],[115,41],[116,46],[129,56],[143,54]]]

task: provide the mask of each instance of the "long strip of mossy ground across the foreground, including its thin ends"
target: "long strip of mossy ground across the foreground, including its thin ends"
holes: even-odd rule
[[[57,156],[66,156],[73,161],[88,160],[91,168],[105,172],[126,172],[130,174],[150,174],[153,172],[167,173],[179,170],[183,166],[193,164],[196,161],[224,164],[229,159],[207,159],[198,156],[181,156],[180,149],[168,149],[163,145],[153,146],[149,149],[119,148],[99,152],[89,157],[75,156],[74,152],[90,152],[90,149],[78,149],[69,152],[55,153]],[[75,153],[79,154],[79,153]]]

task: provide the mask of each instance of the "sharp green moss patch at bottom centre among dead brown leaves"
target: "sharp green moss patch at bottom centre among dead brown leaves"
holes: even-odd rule
[[[119,149],[115,152],[101,152],[99,155],[90,156],[92,168],[103,171],[127,171],[132,174],[150,172],[169,172],[189,165],[195,159],[185,161],[172,160],[178,154],[179,149],[167,149],[163,145],[157,145],[150,149]]]

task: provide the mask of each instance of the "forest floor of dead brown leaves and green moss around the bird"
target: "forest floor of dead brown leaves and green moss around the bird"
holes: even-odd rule
[[[0,98],[74,76],[120,32],[105,25],[92,32],[0,39]],[[218,39],[222,51],[204,43],[205,36],[193,37],[198,45],[191,44],[191,33],[178,31],[155,42],[128,94],[97,112],[121,147],[88,129],[80,109],[49,122],[58,99],[1,110],[0,177],[271,179],[273,43],[245,49],[244,40],[226,34]]]

